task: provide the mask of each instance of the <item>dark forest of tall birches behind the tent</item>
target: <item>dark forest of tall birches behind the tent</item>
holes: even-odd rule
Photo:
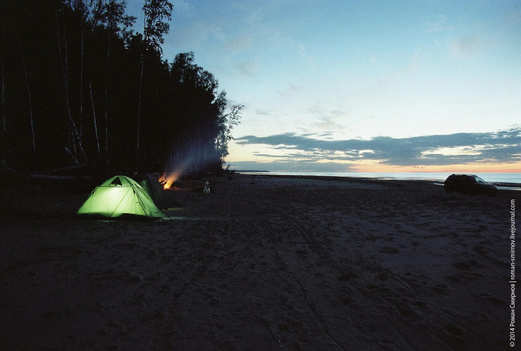
[[[4,169],[221,170],[241,107],[225,114],[226,93],[193,52],[162,57],[168,1],[144,1],[143,33],[125,9],[116,0],[3,2]]]

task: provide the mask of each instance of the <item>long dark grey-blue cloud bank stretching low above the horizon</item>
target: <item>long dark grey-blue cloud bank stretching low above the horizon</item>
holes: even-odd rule
[[[264,154],[267,158],[284,160],[308,159],[337,160],[356,157],[374,160],[381,164],[396,166],[451,165],[474,162],[517,162],[516,153],[521,147],[521,127],[489,133],[457,133],[449,135],[426,135],[410,138],[375,137],[370,140],[321,140],[307,135],[284,133],[257,137],[237,138],[239,145],[263,144],[284,149],[291,145],[284,156]],[[370,152],[370,151],[372,152]],[[342,155],[343,153],[343,155]]]

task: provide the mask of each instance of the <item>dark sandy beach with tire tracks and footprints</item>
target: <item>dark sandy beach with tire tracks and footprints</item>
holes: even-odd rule
[[[78,218],[90,185],[4,191],[2,349],[507,348],[519,192],[231,178],[155,222]]]

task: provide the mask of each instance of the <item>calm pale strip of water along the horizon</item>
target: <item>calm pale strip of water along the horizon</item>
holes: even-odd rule
[[[377,172],[253,172],[255,174],[281,174],[281,175],[313,175],[333,177],[363,177],[379,179],[419,179],[419,180],[445,180],[452,173],[377,173]],[[521,173],[473,173],[485,181],[492,183],[517,183],[521,185]]]

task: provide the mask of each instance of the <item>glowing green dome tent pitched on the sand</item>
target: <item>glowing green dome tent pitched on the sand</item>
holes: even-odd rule
[[[78,214],[108,218],[123,214],[167,217],[135,180],[125,176],[112,177],[96,187],[80,207]]]

